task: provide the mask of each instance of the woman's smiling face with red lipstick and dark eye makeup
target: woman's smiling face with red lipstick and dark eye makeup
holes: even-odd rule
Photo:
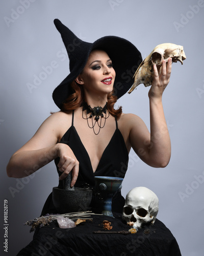
[[[83,72],[75,80],[82,84],[85,93],[107,95],[112,92],[115,70],[108,54],[93,50]]]

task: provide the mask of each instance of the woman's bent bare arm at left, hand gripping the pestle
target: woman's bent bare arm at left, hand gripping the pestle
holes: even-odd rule
[[[7,165],[9,177],[29,176],[55,158],[60,157],[58,164],[59,170],[62,172],[60,179],[64,179],[72,170],[71,186],[75,184],[79,172],[79,162],[68,145],[57,143],[60,139],[63,115],[66,114],[57,112],[49,116],[35,135],[13,154]]]

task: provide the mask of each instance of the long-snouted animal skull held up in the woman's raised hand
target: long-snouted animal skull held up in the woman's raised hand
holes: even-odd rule
[[[180,61],[183,65],[183,60],[186,59],[183,46],[170,43],[156,46],[136,70],[134,75],[135,81],[128,93],[131,93],[140,83],[143,83],[145,87],[150,86],[154,78],[153,65],[157,65],[160,75],[162,61],[168,62],[169,58],[172,58],[172,62]]]

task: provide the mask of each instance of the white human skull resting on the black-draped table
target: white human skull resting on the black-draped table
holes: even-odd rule
[[[127,193],[122,219],[133,227],[142,227],[144,223],[155,223],[159,210],[159,199],[147,187],[135,187]]]

